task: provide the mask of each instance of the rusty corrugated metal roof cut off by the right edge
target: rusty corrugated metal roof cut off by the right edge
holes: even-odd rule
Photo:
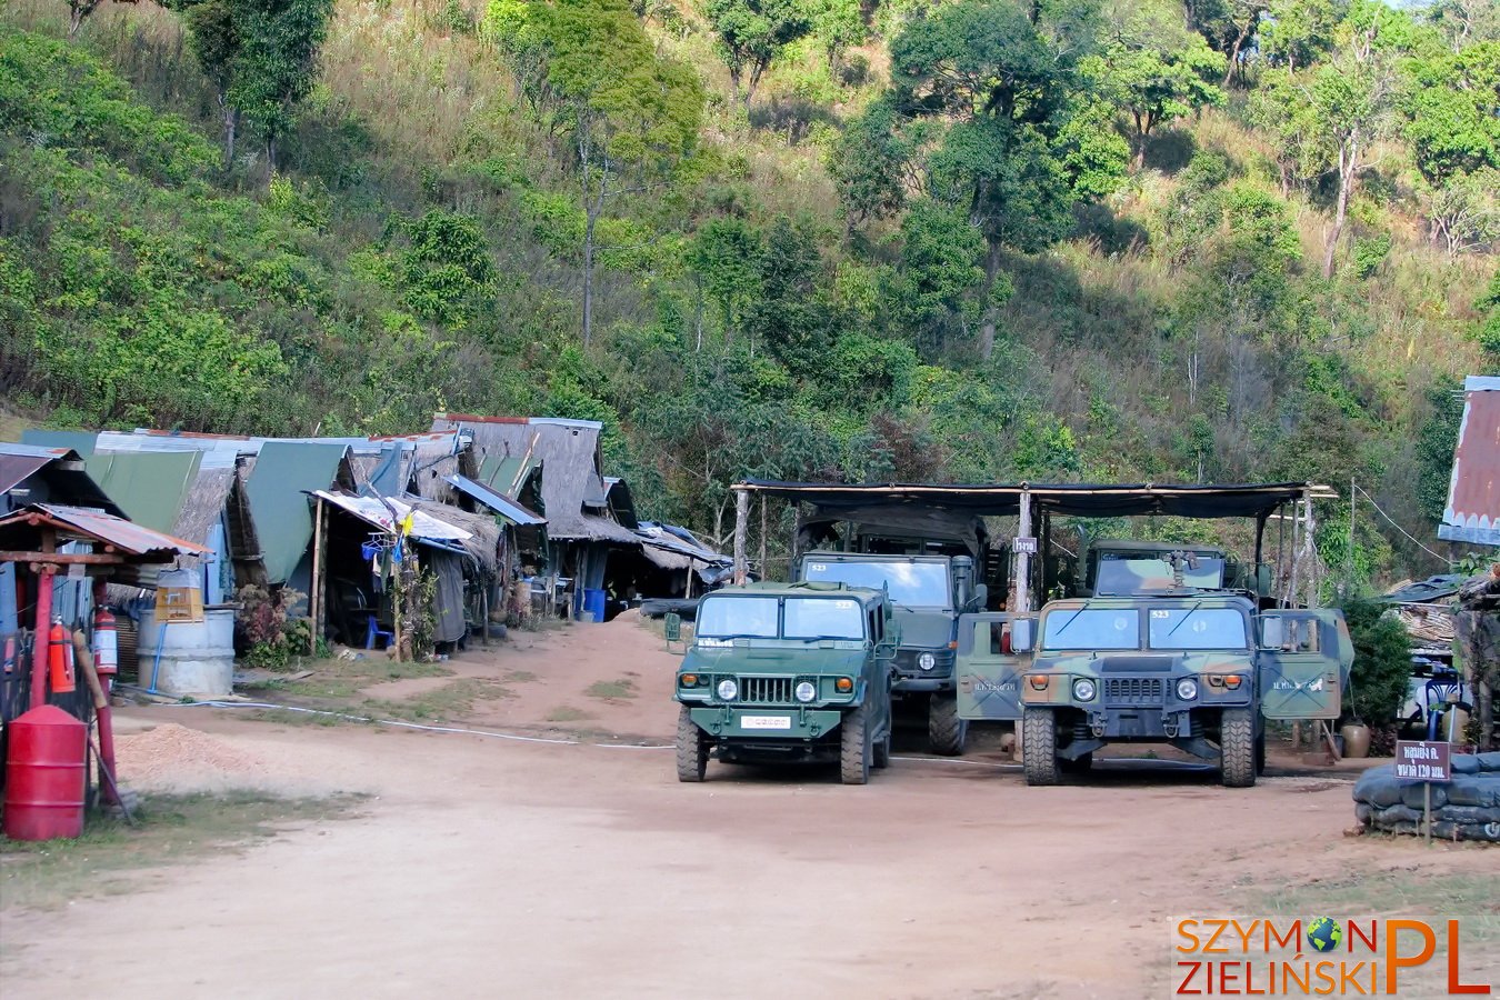
[[[1500,546],[1500,378],[1464,379],[1464,420],[1437,537]]]

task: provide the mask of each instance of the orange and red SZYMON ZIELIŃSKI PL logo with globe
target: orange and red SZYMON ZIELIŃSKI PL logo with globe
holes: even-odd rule
[[[1180,919],[1172,931],[1173,996],[1401,997],[1414,990],[1490,996],[1486,976],[1473,973],[1473,961],[1466,966],[1466,924],[1461,918]]]

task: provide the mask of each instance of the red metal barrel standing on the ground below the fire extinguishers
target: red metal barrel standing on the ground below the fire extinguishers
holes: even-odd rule
[[[44,705],[6,729],[4,835],[52,840],[82,834],[88,727],[56,705]]]

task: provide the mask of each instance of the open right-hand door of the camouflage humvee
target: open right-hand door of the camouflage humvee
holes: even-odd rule
[[[1354,643],[1342,612],[1264,612],[1257,618],[1260,714],[1266,718],[1338,718]]]

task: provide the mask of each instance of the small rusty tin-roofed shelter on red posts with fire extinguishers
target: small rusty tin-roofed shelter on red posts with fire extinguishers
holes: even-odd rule
[[[30,636],[45,631],[58,618],[52,586],[46,585],[56,577],[90,586],[98,600],[99,591],[110,582],[138,583],[142,576],[154,576],[156,570],[182,558],[202,555],[207,555],[202,546],[84,507],[27,504],[0,517],[0,564],[16,570],[20,610],[34,621]],[[82,622],[64,618],[64,625],[81,627]],[[18,648],[24,649],[27,639],[27,634],[21,634]],[[24,669],[10,670],[0,681],[4,718],[14,718],[27,705],[36,706],[45,700],[46,643],[30,645],[30,675]],[[16,663],[24,661],[24,655],[16,657]],[[18,694],[18,687],[27,688],[27,693]],[[76,694],[64,708],[86,717],[88,705],[86,697]]]

